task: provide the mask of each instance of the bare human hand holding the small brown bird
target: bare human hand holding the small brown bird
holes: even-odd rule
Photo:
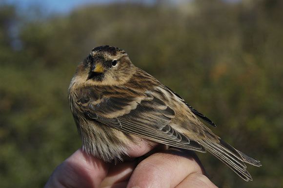
[[[138,156],[152,146],[132,149]],[[54,170],[44,188],[216,188],[193,151],[158,146],[151,153],[142,161],[130,158],[115,165],[79,149]]]

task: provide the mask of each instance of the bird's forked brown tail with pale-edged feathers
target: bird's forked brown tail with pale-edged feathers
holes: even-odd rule
[[[252,181],[252,177],[247,171],[244,162],[256,167],[262,166],[259,160],[254,159],[239,150],[236,150],[221,139],[212,141],[211,139],[205,138],[199,141],[199,143],[207,151],[209,151],[211,154],[220,159],[224,164],[230,167],[245,181]]]

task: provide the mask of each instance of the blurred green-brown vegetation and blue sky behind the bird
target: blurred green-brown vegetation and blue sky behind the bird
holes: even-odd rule
[[[223,140],[262,161],[244,182],[198,153],[222,188],[283,187],[282,0],[0,1],[0,184],[43,187],[81,147],[67,100],[96,46],[132,62],[212,119]]]

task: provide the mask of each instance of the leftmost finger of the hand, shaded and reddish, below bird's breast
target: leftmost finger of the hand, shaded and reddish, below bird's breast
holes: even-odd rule
[[[44,188],[97,188],[108,168],[109,164],[79,149],[54,170]]]

